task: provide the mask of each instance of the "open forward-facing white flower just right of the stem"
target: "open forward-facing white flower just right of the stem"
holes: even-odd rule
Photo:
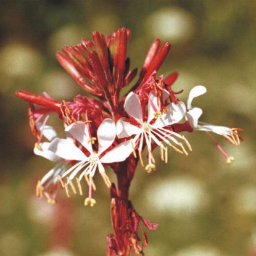
[[[142,166],[144,166],[144,163],[142,162],[141,153],[143,144],[146,142],[149,159],[149,163],[146,165],[147,172],[155,170],[152,142],[160,147],[161,159],[165,160],[165,162],[167,162],[167,147],[164,146],[163,142],[175,149],[175,151],[188,155],[183,144],[178,142],[174,136],[185,141],[188,148],[191,150],[187,139],[184,138],[184,136],[167,129],[167,126],[180,122],[184,117],[186,106],[183,102],[178,102],[178,104],[171,102],[161,112],[158,98],[155,92],[151,91],[149,94],[147,117],[143,117],[139,96],[131,92],[125,99],[124,109],[130,117],[134,118],[135,122],[133,124],[131,123],[131,120],[128,120],[128,122],[122,119],[118,120],[117,136],[118,138],[126,138],[135,135],[133,138],[133,147],[135,149],[136,146],[138,146],[139,158]],[[180,149],[173,146],[171,142],[180,147]]]

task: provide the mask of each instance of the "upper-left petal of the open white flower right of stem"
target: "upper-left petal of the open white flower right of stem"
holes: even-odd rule
[[[133,92],[126,96],[125,104],[123,105],[125,111],[128,115],[131,115],[136,121],[142,123],[142,110],[141,101],[139,101],[139,96]]]

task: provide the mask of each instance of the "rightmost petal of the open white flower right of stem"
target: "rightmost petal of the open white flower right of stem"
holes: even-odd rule
[[[178,123],[186,113],[186,105],[181,101],[179,101],[178,104],[172,102],[166,107],[166,109],[166,114],[163,114],[162,117],[157,118],[153,124],[154,127],[160,128]]]

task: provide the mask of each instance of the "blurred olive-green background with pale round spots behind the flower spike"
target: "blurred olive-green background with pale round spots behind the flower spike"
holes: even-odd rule
[[[184,89],[184,101],[193,86],[207,86],[194,101],[204,109],[201,120],[244,128],[240,147],[217,138],[236,159],[230,166],[198,131],[187,135],[188,157],[169,152],[168,165],[159,162],[151,175],[138,168],[131,199],[142,216],[160,223],[148,232],[146,255],[256,255],[255,1],[0,3],[0,255],[105,254],[105,236],[112,232],[109,191],[96,178],[93,208],[83,206],[83,197],[66,199],[63,191],[57,205],[36,199],[36,181],[53,164],[33,155],[27,103],[14,92],[47,91],[67,100],[84,93],[55,52],[93,30],[107,35],[120,27],[132,30],[132,67],[141,67],[154,38],[170,41],[159,74],[180,72],[173,88]],[[57,118],[51,122],[60,125]]]

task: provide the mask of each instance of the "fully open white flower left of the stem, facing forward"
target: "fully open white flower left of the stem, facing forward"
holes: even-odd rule
[[[67,183],[63,183],[62,181],[62,184],[69,197],[67,186],[70,184],[72,190],[75,191],[75,186],[73,186],[72,180],[76,178],[80,194],[83,194],[80,181],[85,177],[86,182],[89,185],[89,197],[85,199],[85,205],[89,204],[93,206],[96,201],[91,196],[92,188],[94,186],[93,176],[96,170],[99,170],[105,184],[110,187],[111,183],[109,177],[105,174],[103,163],[124,161],[133,151],[131,140],[122,142],[118,144],[118,146],[108,150],[115,140],[115,123],[110,118],[105,118],[97,129],[97,139],[90,136],[89,125],[83,122],[72,123],[65,128],[65,131],[79,141],[81,146],[85,147],[86,152],[81,151],[81,149],[70,140],[59,138],[56,138],[51,142],[49,150],[63,159],[78,161],[78,163],[73,165],[73,167],[69,168],[62,175],[62,178],[68,176]],[[95,151],[92,146],[96,140],[98,141],[97,151]]]

